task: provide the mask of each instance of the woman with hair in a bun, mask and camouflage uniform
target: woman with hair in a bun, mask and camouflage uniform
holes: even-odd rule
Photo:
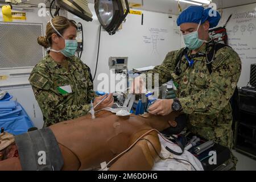
[[[35,68],[29,81],[43,113],[44,127],[85,115],[90,101],[96,105],[103,97],[96,97],[89,67],[74,56],[77,48],[77,26],[63,16],[56,16],[47,23],[46,36],[39,36],[38,43],[50,48]],[[113,105],[113,95],[97,109]]]

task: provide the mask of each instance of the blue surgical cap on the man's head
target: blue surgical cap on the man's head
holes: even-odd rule
[[[177,26],[180,26],[182,23],[199,24],[200,20],[201,23],[204,23],[208,20],[210,23],[210,28],[213,28],[217,26],[220,19],[221,15],[216,10],[212,10],[211,8],[204,9],[203,6],[189,6],[187,9],[182,11],[182,13],[177,18]]]

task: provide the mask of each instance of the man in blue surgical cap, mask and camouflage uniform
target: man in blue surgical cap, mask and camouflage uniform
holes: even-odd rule
[[[210,18],[207,17],[205,11],[207,10],[204,10],[203,7],[189,7],[177,19],[178,26],[180,24],[183,26],[183,23],[196,23],[196,26],[192,28],[194,32],[200,23],[206,23],[206,26],[205,24],[201,25],[204,28],[207,27],[207,24],[210,27],[213,27],[211,24],[216,26],[220,20],[220,15],[218,14],[219,18],[216,17],[216,19],[214,17]],[[187,29],[190,30],[191,28],[187,26]],[[209,27],[205,28],[205,30],[207,30],[205,35],[208,36],[205,37],[205,40],[209,40]],[[183,31],[183,34],[185,36],[185,31]],[[194,40],[192,39],[192,41]],[[214,140],[214,142],[231,150],[233,147],[233,118],[229,100],[236,89],[241,74],[241,59],[232,48],[228,46],[222,47],[214,53],[211,63],[212,73],[210,73],[207,67],[207,63],[210,60],[207,60],[205,53],[209,54],[213,47],[214,41],[211,40],[197,49],[196,52],[199,54],[194,53],[195,55],[192,55],[193,49],[188,49],[187,56],[193,56],[194,60],[192,66],[189,66],[185,55],[180,59],[180,67],[177,65],[177,60],[179,60],[184,48],[179,51],[169,52],[161,65],[156,66],[147,73],[152,73],[153,80],[154,74],[158,73],[159,85],[171,79],[174,81],[174,85],[176,85],[176,102],[180,105],[180,110],[188,114],[188,129],[193,134],[208,140]],[[180,68],[180,75],[175,71],[176,67]],[[152,85],[154,85],[154,82],[152,82]],[[156,101],[149,108],[149,112],[156,115],[166,115],[173,110],[174,101]],[[237,163],[237,159],[233,155],[232,160],[233,163]]]

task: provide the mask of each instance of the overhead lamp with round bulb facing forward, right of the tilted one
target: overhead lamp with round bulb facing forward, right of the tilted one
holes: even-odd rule
[[[127,0],[95,0],[94,9],[102,27],[114,35],[130,11]]]

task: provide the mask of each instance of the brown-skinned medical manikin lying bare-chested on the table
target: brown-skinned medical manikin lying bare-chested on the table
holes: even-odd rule
[[[150,170],[161,151],[157,131],[176,129],[180,116],[174,112],[166,116],[118,117],[99,111],[96,119],[88,114],[48,129],[63,156],[61,170],[96,169],[103,162],[109,163],[109,170]],[[24,169],[17,151],[13,142],[8,153],[15,155],[0,161],[0,170]]]

